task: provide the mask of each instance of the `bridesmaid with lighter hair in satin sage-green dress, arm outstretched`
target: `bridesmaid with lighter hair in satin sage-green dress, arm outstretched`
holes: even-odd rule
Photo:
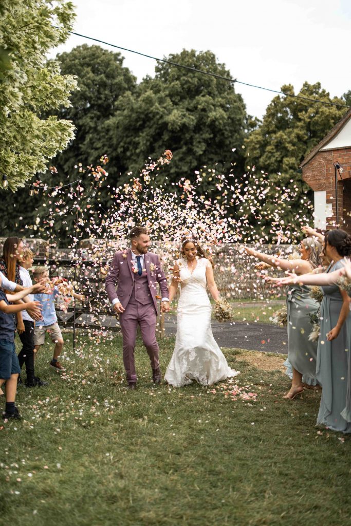
[[[313,238],[306,238],[301,242],[300,259],[282,259],[269,256],[246,248],[247,254],[254,256],[268,265],[281,270],[295,271],[296,274],[308,274],[320,265],[320,243]],[[303,375],[308,377],[309,383],[316,383],[317,343],[308,340],[311,331],[309,314],[318,311],[318,301],[309,296],[306,286],[294,285],[288,291],[287,304],[287,333],[288,333],[288,362],[293,369],[292,386],[284,397],[293,400],[303,391]],[[289,365],[289,364],[287,364]]]

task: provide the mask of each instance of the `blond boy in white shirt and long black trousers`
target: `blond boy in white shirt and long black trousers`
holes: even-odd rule
[[[22,259],[19,261],[19,277],[21,277],[24,287],[32,287],[33,285],[31,276],[29,276],[28,272],[28,269],[33,266],[33,256],[34,254],[30,248],[25,247],[23,249]],[[33,301],[33,295],[28,294],[28,299]],[[22,330],[19,330],[19,328]],[[47,386],[47,382],[44,382],[39,377],[35,376],[34,373],[34,320],[25,310],[22,312],[22,319],[17,321],[17,332],[19,339],[22,342],[22,349],[18,355],[19,367],[22,369],[23,363],[26,364],[27,378],[25,386]]]

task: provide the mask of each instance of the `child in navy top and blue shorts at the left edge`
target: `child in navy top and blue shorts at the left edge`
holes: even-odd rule
[[[2,283],[0,284],[1,286]],[[18,409],[15,407],[17,378],[21,369],[19,368],[14,343],[16,329],[13,315],[27,308],[33,309],[38,314],[40,310],[37,301],[29,301],[18,305],[10,305],[9,301],[19,301],[27,294],[33,294],[33,292],[41,290],[43,290],[43,287],[39,284],[17,292],[17,294],[6,295],[0,288],[0,387],[4,383],[6,384],[6,406],[3,413],[3,419],[5,420],[21,418]]]

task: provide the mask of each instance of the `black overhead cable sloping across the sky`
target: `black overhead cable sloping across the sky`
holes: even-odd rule
[[[60,29],[57,26],[54,26],[54,27],[56,27],[57,29]],[[290,93],[285,93],[285,92],[282,92],[282,91],[279,91],[279,90],[276,90],[276,89],[265,88],[263,86],[257,86],[255,84],[249,84],[247,82],[242,82],[242,80],[238,80],[237,78],[224,77],[222,75],[217,75],[216,73],[210,73],[210,72],[207,72],[207,71],[203,71],[203,70],[197,69],[195,67],[185,66],[184,64],[178,64],[177,62],[172,62],[172,60],[167,60],[165,58],[157,58],[157,57],[153,57],[152,55],[146,55],[145,53],[141,53],[140,51],[135,51],[135,49],[128,49],[127,47],[117,46],[116,44],[111,44],[110,42],[105,42],[103,40],[99,40],[98,38],[94,38],[94,37],[91,37],[91,36],[82,35],[81,33],[76,33],[75,31],[68,31],[68,33],[71,33],[72,35],[80,36],[82,38],[87,38],[88,40],[92,40],[94,42],[98,42],[99,44],[105,44],[106,46],[115,47],[116,49],[122,49],[123,51],[127,51],[128,53],[134,53],[135,55],[140,55],[142,57],[151,58],[152,60],[157,60],[157,62],[164,62],[165,64],[170,64],[171,66],[176,66],[176,67],[179,67],[179,68],[188,69],[188,70],[193,71],[195,73],[201,73],[202,75],[207,75],[209,77],[218,78],[220,80],[226,80],[227,82],[230,82],[232,84],[235,84],[235,83],[236,84],[242,84],[243,86],[249,86],[249,87],[257,88],[257,89],[263,89],[266,92],[277,93],[279,95],[284,95],[285,97],[293,97],[293,98],[302,99],[302,100],[309,100],[309,102],[314,102],[314,103],[318,103],[318,104],[325,104],[327,106],[337,106],[339,108],[351,108],[351,106],[347,106],[346,104],[336,104],[334,102],[328,102],[326,100],[319,100],[319,99],[314,99],[314,98],[310,98],[310,97],[303,97],[302,95],[292,95]]]

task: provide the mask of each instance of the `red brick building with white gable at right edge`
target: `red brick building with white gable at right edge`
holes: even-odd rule
[[[351,109],[300,164],[304,181],[314,190],[315,227],[336,225],[335,164],[338,224],[351,234]]]

